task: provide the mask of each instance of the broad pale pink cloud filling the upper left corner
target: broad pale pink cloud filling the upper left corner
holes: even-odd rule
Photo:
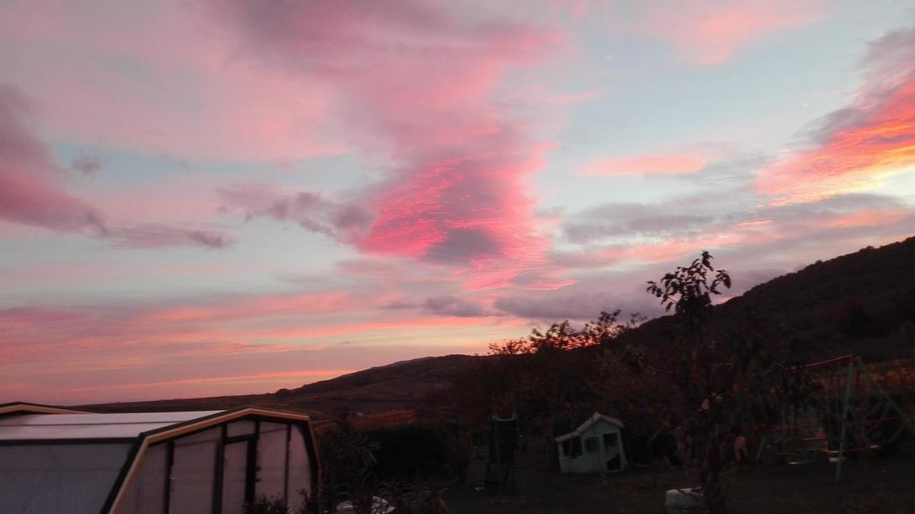
[[[340,151],[319,134],[327,97],[318,84],[238,62],[200,15],[172,2],[37,0],[5,11],[0,44],[22,48],[10,69],[54,134],[188,157]]]

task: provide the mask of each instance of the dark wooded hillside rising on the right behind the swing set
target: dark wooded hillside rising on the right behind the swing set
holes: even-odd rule
[[[814,262],[714,310],[716,327],[737,326],[745,313],[755,312],[777,327],[781,342],[800,360],[850,353],[866,362],[910,358],[915,350],[915,237]],[[663,341],[663,324],[664,317],[652,319],[630,337]]]

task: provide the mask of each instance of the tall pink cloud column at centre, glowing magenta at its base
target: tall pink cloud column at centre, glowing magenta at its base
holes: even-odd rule
[[[248,59],[335,91],[353,144],[393,161],[365,195],[371,225],[349,234],[361,252],[498,274],[480,281],[493,285],[544,265],[525,180],[545,147],[493,100],[512,70],[555,53],[559,33],[409,1],[236,2],[213,15]]]

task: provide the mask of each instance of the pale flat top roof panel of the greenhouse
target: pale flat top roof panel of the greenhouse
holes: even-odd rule
[[[149,430],[223,411],[14,414],[0,418],[0,440],[136,437]]]

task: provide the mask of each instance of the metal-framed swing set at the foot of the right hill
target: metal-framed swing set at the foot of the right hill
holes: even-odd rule
[[[782,411],[780,426],[763,435],[757,460],[767,448],[791,466],[828,455],[838,481],[845,455],[860,453],[867,458],[897,441],[907,428],[915,434],[915,425],[856,355],[803,368],[817,391],[802,407]]]

